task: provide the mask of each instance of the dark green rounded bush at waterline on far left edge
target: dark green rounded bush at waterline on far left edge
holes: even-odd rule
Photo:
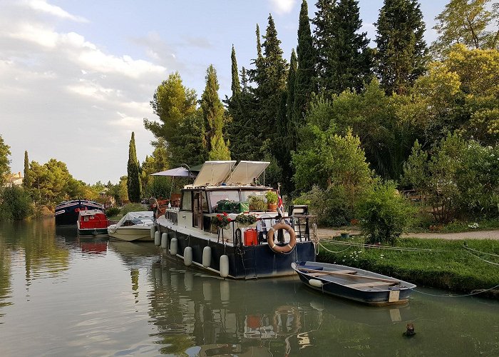
[[[31,196],[19,186],[4,188],[0,196],[0,218],[3,220],[16,220],[31,216]]]

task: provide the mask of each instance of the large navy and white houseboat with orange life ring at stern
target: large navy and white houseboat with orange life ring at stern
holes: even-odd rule
[[[264,203],[272,191],[255,183],[269,163],[235,163],[205,162],[195,182],[182,189],[180,207],[168,208],[158,218],[160,232],[167,233],[166,256],[223,277],[292,275],[292,261],[315,259],[309,238],[312,216],[307,216],[305,206],[299,214],[291,210],[289,216],[249,208],[250,197],[262,198]],[[235,222],[240,213],[248,212],[257,216],[256,230]],[[227,218],[227,225],[217,224]]]

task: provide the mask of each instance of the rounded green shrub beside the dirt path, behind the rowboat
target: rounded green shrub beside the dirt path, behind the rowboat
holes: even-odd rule
[[[393,245],[411,221],[413,206],[395,187],[392,181],[376,183],[359,202],[360,225],[368,243]]]

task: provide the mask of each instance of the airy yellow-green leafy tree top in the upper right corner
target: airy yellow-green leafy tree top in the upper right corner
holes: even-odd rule
[[[451,0],[436,16],[438,39],[431,50],[442,56],[454,44],[463,44],[468,49],[499,48],[499,5],[488,8],[490,0]]]

